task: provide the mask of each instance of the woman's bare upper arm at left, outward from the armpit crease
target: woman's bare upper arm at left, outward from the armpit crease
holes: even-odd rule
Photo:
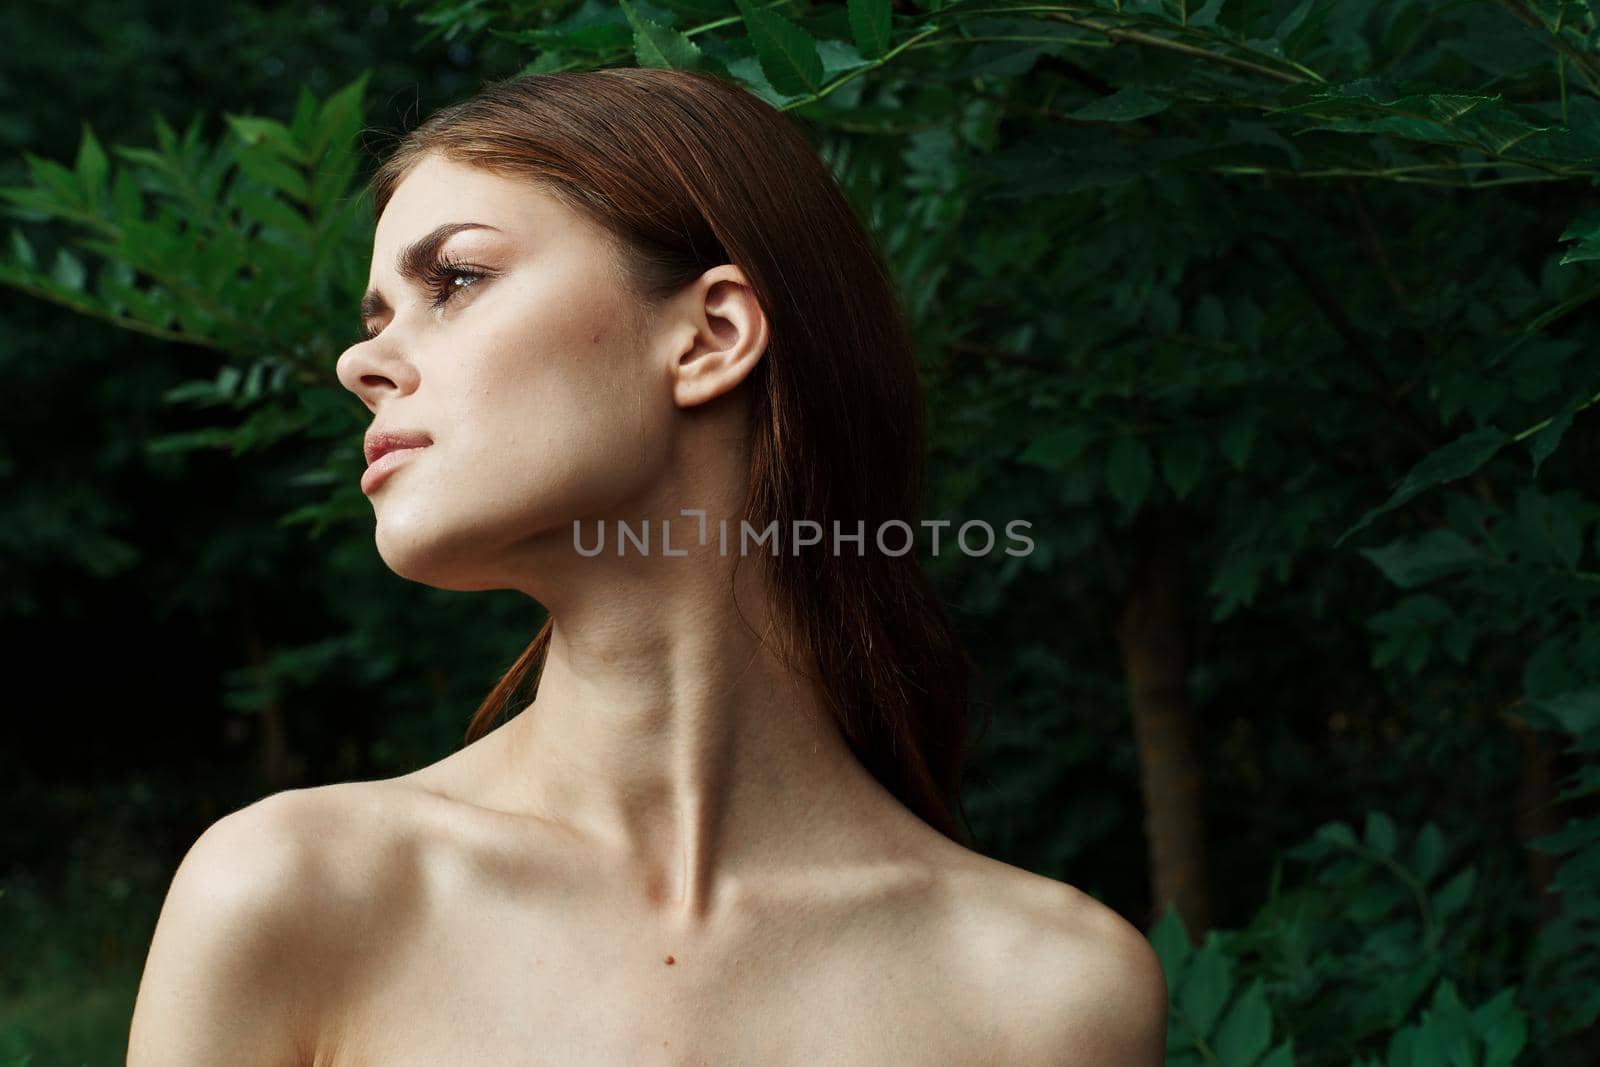
[[[309,1062],[315,857],[294,793],[214,822],[184,856],[139,982],[128,1067]]]

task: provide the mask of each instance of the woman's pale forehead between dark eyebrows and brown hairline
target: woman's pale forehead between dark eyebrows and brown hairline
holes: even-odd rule
[[[373,235],[373,258],[392,262],[408,243],[438,226],[470,219],[512,237],[555,235],[581,226],[533,181],[427,155],[395,187]],[[374,264],[376,267],[376,264]]]

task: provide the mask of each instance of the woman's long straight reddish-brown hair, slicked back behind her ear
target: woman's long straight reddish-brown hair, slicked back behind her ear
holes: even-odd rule
[[[973,664],[914,547],[923,398],[910,331],[882,253],[802,128],[709,74],[523,74],[405,134],[373,176],[378,216],[435,154],[536,182],[597,222],[645,307],[718,264],[744,272],[770,341],[739,384],[750,451],[741,518],[755,531],[778,523],[778,553],[755,555],[792,627],[774,651],[819,681],[867,771],[970,846],[952,801],[965,822]],[[821,542],[790,547],[802,520],[821,526]],[[835,523],[850,541],[835,545]],[[547,617],[472,715],[469,744],[536,691],[554,625]]]

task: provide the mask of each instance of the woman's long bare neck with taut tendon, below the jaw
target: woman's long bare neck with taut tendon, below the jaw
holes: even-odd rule
[[[782,624],[762,561],[736,560],[651,558],[648,581],[563,597],[538,697],[496,731],[512,803],[619,861],[677,926],[730,888],[838,862],[851,841],[866,854],[882,845],[869,816],[898,805],[818,683],[773,651]]]

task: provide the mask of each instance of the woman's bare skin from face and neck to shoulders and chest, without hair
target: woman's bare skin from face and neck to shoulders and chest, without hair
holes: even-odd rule
[[[461,222],[438,254],[485,277],[434,307],[397,259]],[[538,697],[419,771],[208,830],[130,1064],[1160,1064],[1142,936],[906,809],[760,641],[757,561],[734,603],[734,558],[678,541],[680,509],[739,515],[768,322],[733,264],[645,307],[606,240],[437,157],[389,202],[373,336],[338,378],[371,426],[434,443],[371,493],[376,549],[549,608]],[[574,518],[645,517],[688,555],[573,547]]]

